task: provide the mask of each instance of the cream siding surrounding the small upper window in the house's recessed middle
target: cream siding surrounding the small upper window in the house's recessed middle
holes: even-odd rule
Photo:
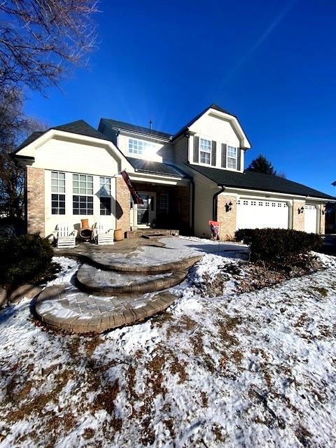
[[[133,154],[129,152],[128,141],[129,139],[149,141],[153,144],[154,148],[148,148],[142,155]],[[172,146],[169,143],[162,143],[162,141],[155,141],[155,139],[148,139],[144,136],[137,134],[119,134],[118,135],[118,148],[126,157],[134,157],[142,160],[151,160],[152,162],[172,162]]]

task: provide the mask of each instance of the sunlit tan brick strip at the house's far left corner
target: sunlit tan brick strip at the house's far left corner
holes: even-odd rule
[[[45,225],[45,188],[44,169],[27,167],[26,171],[27,195],[27,232],[38,232],[44,237]]]

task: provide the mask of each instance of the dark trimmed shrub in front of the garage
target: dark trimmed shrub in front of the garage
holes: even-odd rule
[[[289,262],[322,244],[320,235],[287,229],[241,229],[235,237],[248,244],[252,261]]]

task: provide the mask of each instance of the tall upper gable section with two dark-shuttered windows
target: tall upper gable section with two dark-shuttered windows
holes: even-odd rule
[[[179,151],[186,137],[188,155]],[[172,141],[177,148],[176,162],[235,172],[244,171],[244,153],[251,148],[238,118],[216,104],[191,120]]]

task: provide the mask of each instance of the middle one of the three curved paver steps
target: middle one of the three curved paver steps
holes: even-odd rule
[[[188,271],[151,274],[102,271],[90,265],[78,269],[77,285],[80,290],[101,296],[153,293],[172,288],[186,279]]]

